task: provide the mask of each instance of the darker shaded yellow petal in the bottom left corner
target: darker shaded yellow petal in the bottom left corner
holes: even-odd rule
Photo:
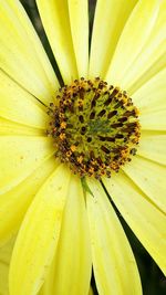
[[[9,263],[12,254],[14,239],[0,247],[0,294],[9,295]]]

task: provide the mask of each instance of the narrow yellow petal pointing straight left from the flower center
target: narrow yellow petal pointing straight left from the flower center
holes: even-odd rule
[[[0,117],[0,135],[43,136],[44,130],[32,128]]]

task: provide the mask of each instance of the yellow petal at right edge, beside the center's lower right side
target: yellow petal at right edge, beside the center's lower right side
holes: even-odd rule
[[[166,135],[143,131],[137,155],[159,162],[160,165],[166,165]]]

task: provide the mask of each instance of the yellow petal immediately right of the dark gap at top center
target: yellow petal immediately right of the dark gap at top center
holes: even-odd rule
[[[97,0],[90,57],[90,76],[104,77],[125,22],[137,0]]]

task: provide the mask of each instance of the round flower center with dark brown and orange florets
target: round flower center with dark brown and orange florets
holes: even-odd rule
[[[126,92],[98,77],[60,88],[48,114],[55,156],[80,177],[111,177],[136,154],[138,110]]]

